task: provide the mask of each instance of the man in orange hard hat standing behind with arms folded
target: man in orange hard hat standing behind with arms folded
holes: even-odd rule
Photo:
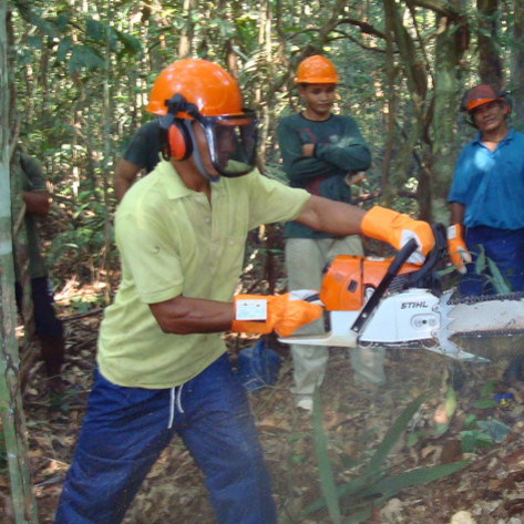
[[[278,125],[278,144],[284,171],[291,187],[300,187],[331,201],[351,203],[355,174],[371,164],[371,153],[351,116],[331,112],[337,93],[338,74],[321,55],[300,62],[296,82],[306,107],[282,119]],[[286,269],[290,290],[320,288],[322,270],[338,255],[363,255],[358,236],[318,232],[298,222],[285,228]],[[301,335],[323,331],[318,320],[305,326]],[[292,345],[297,405],[312,409],[312,393],[326,374],[328,348]],[[350,352],[355,378],[377,386],[386,381],[384,350],[358,348]]]

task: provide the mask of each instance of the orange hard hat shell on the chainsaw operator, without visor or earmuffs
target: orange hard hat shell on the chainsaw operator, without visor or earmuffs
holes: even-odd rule
[[[242,95],[233,76],[219,65],[201,59],[173,62],[156,78],[146,111],[157,115],[167,113],[167,104],[179,94],[196,106],[203,116],[242,115]],[[191,119],[179,113],[178,119]]]

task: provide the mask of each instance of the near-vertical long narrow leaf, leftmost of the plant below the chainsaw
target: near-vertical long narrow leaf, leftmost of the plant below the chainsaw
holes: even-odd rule
[[[328,453],[328,440],[322,429],[322,408],[320,404],[320,393],[318,388],[314,393],[312,427],[322,495],[326,500],[331,521],[335,524],[341,524],[342,521],[340,506],[338,504],[337,486],[335,484],[335,477]]]

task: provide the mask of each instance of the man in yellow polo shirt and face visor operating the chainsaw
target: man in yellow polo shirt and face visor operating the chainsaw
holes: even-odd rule
[[[219,524],[271,524],[276,508],[246,392],[222,333],[281,336],[321,308],[284,296],[234,296],[249,229],[297,219],[399,248],[433,245],[428,224],[311,196],[255,169],[257,119],[234,79],[205,60],[161,72],[147,110],[165,161],[126,193],[115,217],[122,284],[104,315],[88,411],[59,524],[122,521],[178,433],[205,474]]]

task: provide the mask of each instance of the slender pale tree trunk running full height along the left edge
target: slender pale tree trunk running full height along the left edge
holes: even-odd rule
[[[14,337],[14,271],[9,179],[9,89],[6,0],[0,0],[0,418],[6,441],[17,524],[38,523],[29,471],[25,421],[20,397],[19,355]]]

